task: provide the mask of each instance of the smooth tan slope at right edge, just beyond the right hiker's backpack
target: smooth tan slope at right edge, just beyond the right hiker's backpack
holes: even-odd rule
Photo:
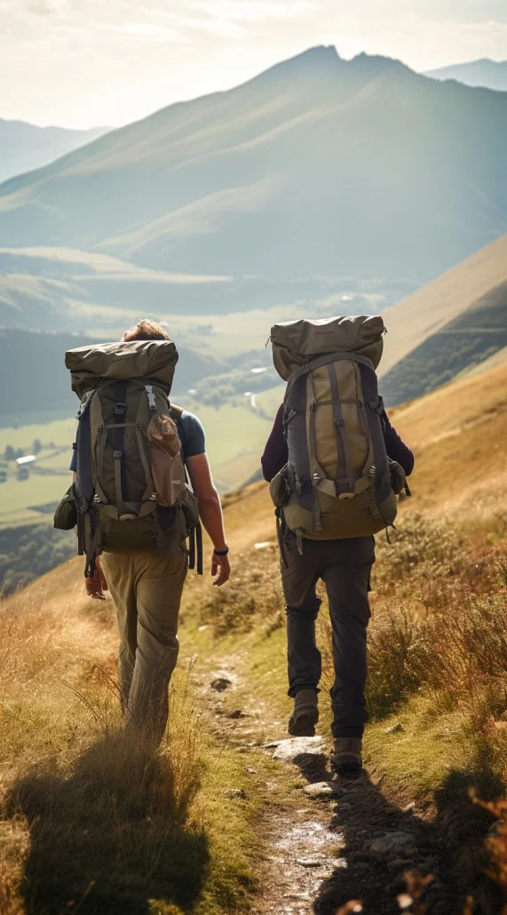
[[[380,374],[507,281],[507,235],[390,308]]]

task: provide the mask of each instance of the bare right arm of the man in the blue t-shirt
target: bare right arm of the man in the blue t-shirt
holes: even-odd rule
[[[194,490],[202,523],[210,534],[214,550],[225,550],[225,531],[223,528],[223,515],[221,513],[220,496],[215,489],[211,478],[210,464],[206,454],[194,455],[187,458],[189,478]],[[211,575],[215,576],[213,584],[223,585],[231,575],[229,556],[217,556],[213,553],[211,559]]]

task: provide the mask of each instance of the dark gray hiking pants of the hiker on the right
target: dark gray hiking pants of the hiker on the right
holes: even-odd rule
[[[351,540],[303,540],[286,535],[286,562],[281,564],[286,599],[288,694],[317,689],[321,658],[315,640],[315,620],[321,578],[329,598],[335,680],[331,689],[333,737],[361,737],[367,714],[366,627],[370,619],[368,591],[375,561],[372,537]]]

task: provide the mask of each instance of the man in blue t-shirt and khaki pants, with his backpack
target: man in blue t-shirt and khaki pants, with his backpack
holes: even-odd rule
[[[167,401],[175,345],[151,320],[139,321],[122,340],[66,354],[73,390],[82,398],[71,498],[78,508],[81,500],[84,511],[87,594],[102,600],[109,587],[117,611],[124,714],[158,744],[167,724],[179,604],[187,569],[195,564],[196,534],[202,571],[199,517],[214,547],[213,585],[221,587],[231,569],[204,429],[197,416],[175,404],[169,408]]]

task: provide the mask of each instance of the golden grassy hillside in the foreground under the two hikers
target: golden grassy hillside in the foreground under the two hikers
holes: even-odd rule
[[[224,500],[230,585],[217,593],[206,579],[189,579],[171,726],[155,760],[122,740],[111,605],[85,600],[81,565],[62,566],[4,604],[0,900],[6,915],[29,906],[56,913],[70,900],[83,913],[280,910],[271,894],[282,871],[292,875],[302,807],[316,829],[330,820],[340,845],[332,853],[325,848],[339,858],[312,902],[323,915],[334,915],[352,896],[364,899],[371,915],[396,910],[393,877],[358,839],[361,829],[368,835],[378,828],[380,811],[387,812],[381,832],[402,823],[398,828],[429,836],[431,861],[417,862],[423,873],[437,870],[428,912],[461,913],[467,896],[475,899],[476,915],[501,910],[500,894],[482,873],[482,843],[493,819],[473,805],[469,787],[498,797],[507,771],[506,382],[503,366],[394,412],[415,448],[414,496],[400,507],[394,544],[382,536],[377,543],[369,776],[364,789],[355,788],[345,803],[339,798],[330,811],[311,806],[300,770],[277,771],[258,746],[284,737],[290,705],[273,509],[264,484]],[[256,547],[262,542],[271,545]],[[325,687],[319,728],[326,735],[325,610],[324,604],[318,642]],[[234,673],[217,705],[209,684],[219,669]],[[235,720],[238,710],[243,726]],[[490,854],[500,871],[501,825],[494,836]],[[294,895],[289,881],[291,889]]]

